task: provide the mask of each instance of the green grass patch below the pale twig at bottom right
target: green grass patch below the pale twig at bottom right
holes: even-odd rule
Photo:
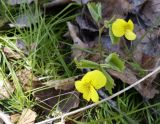
[[[146,104],[132,90],[114,99],[116,106],[105,102],[88,110],[78,124],[159,124],[160,103]],[[153,112],[154,111],[154,112]],[[155,116],[155,113],[158,115]]]

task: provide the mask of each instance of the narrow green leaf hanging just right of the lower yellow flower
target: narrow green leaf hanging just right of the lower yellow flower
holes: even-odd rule
[[[109,92],[109,94],[112,94],[112,89],[115,87],[114,80],[104,69],[102,69],[102,71],[107,78],[107,83],[105,85],[105,89]]]

